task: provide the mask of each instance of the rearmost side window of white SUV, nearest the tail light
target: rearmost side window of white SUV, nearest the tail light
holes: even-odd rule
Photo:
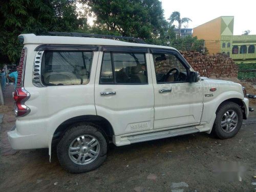
[[[93,52],[45,51],[42,58],[41,80],[45,86],[87,84]]]

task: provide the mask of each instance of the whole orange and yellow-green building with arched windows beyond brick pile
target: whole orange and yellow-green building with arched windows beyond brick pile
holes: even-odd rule
[[[193,29],[209,53],[226,53],[236,63],[256,62],[256,35],[233,35],[234,17],[221,16]]]

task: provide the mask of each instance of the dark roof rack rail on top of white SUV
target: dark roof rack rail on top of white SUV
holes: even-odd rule
[[[108,39],[125,39],[136,42],[137,44],[146,44],[145,41],[135,37],[123,37],[123,36],[115,36],[115,35],[99,35],[99,34],[86,34],[86,33],[66,33],[66,32],[48,32],[50,35],[55,36],[73,36],[73,37],[94,37],[94,38],[108,38]]]

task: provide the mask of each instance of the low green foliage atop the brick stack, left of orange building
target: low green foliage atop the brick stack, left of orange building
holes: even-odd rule
[[[173,39],[170,42],[170,46],[180,51],[198,51],[203,53],[204,40],[197,39],[197,37],[186,36],[184,38]],[[204,53],[208,53],[206,48]]]

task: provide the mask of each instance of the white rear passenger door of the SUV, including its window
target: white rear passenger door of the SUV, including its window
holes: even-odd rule
[[[97,115],[115,136],[153,130],[154,91],[146,48],[103,47],[95,79]]]

